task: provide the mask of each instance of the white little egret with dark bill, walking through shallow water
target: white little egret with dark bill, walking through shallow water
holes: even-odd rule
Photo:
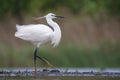
[[[61,30],[59,25],[54,22],[52,19],[54,18],[63,18],[62,16],[58,16],[53,13],[49,13],[46,16],[35,18],[35,20],[39,20],[42,18],[46,18],[47,23],[52,27],[48,27],[44,24],[30,24],[30,25],[16,25],[17,32],[15,33],[15,37],[20,39],[29,41],[34,44],[34,67],[35,74],[36,72],[36,58],[42,60],[43,62],[51,65],[45,58],[41,58],[37,55],[38,48],[49,41],[53,46],[57,46],[61,39]]]

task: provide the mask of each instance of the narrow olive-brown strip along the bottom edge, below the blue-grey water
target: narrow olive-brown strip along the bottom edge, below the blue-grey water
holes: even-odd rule
[[[62,77],[0,77],[0,80],[120,80],[120,77],[111,76],[62,76]]]

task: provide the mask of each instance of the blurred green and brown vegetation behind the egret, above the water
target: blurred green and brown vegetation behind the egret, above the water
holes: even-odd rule
[[[120,67],[120,0],[0,0],[0,67],[33,67],[34,46],[14,37],[16,24],[63,15],[60,45],[39,49],[56,67]],[[38,67],[41,62],[38,61]]]

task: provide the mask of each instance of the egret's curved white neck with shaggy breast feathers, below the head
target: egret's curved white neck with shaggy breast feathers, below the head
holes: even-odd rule
[[[52,40],[52,43],[54,44],[54,46],[57,46],[61,39],[60,27],[52,19],[47,18],[46,20],[47,20],[47,23],[53,28],[54,39]]]

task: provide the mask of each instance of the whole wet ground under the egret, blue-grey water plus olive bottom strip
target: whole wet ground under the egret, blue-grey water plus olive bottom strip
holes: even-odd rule
[[[119,68],[3,68],[0,80],[120,80]]]

